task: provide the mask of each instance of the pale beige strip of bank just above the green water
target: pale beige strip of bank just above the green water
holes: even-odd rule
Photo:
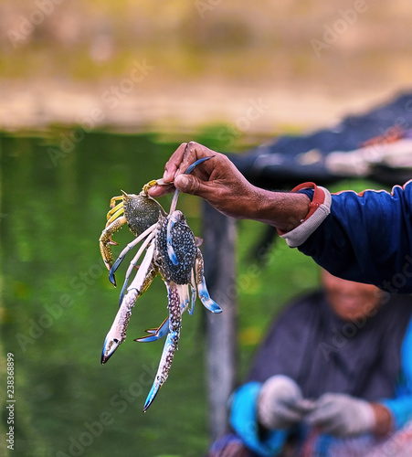
[[[407,85],[371,85],[364,90],[313,83],[251,87],[230,81],[169,81],[151,88],[127,76],[95,84],[5,80],[0,83],[0,127],[14,131],[79,124],[87,130],[110,126],[121,132],[190,133],[221,122],[239,136],[271,135],[332,125],[407,89]]]

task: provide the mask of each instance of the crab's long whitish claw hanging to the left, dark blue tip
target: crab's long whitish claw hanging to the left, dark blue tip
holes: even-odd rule
[[[121,345],[126,338],[126,329],[129,324],[132,308],[137,299],[147,290],[157,273],[153,265],[153,245],[149,247],[144,256],[141,268],[137,271],[128,292],[121,301],[119,311],[114,318],[111,329],[104,340],[101,353],[101,363],[105,364],[112,356],[114,351]]]

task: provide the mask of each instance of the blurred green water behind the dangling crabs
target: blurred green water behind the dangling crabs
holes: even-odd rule
[[[139,192],[145,182],[161,177],[177,145],[154,134],[73,129],[0,134],[1,455],[7,455],[4,433],[11,417],[5,408],[5,355],[10,353],[16,403],[14,452],[8,455],[198,457],[205,452],[204,310],[199,303],[193,316],[184,316],[170,377],[146,413],[144,399],[164,343],[132,339],[166,316],[160,278],[137,303],[125,343],[100,365],[120,292],[108,281],[98,246],[110,199],[120,189]],[[216,146],[212,138],[208,145]],[[170,201],[164,197],[164,207]],[[198,199],[182,196],[179,208],[200,235]],[[284,258],[276,257],[262,271],[251,270],[246,251],[262,227],[251,230],[249,224],[243,221],[238,228],[240,372],[269,324],[268,313],[291,293],[311,287],[317,274],[308,270],[310,260],[284,245],[277,251]],[[115,239],[120,246],[113,250],[119,252],[132,234],[123,228]],[[291,279],[285,264],[298,276]],[[125,269],[122,265],[118,282]],[[245,278],[248,287],[242,288]]]

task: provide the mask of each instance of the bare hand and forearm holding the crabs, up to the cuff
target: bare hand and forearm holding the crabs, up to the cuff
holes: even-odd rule
[[[189,165],[210,157],[190,175]],[[258,220],[290,231],[301,224],[309,211],[309,197],[298,193],[270,192],[251,185],[224,154],[202,144],[182,143],[165,165],[163,184],[149,189],[151,197],[162,197],[174,190],[203,197],[218,211],[232,218]]]

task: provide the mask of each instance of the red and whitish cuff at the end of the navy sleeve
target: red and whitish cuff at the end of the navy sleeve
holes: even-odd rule
[[[313,191],[308,215],[301,220],[301,224],[298,227],[289,232],[282,232],[278,229],[280,237],[286,239],[291,248],[301,246],[331,212],[332,197],[328,189],[316,186],[314,183],[303,183],[300,186],[296,186],[291,192],[299,192],[304,189],[312,189]]]

